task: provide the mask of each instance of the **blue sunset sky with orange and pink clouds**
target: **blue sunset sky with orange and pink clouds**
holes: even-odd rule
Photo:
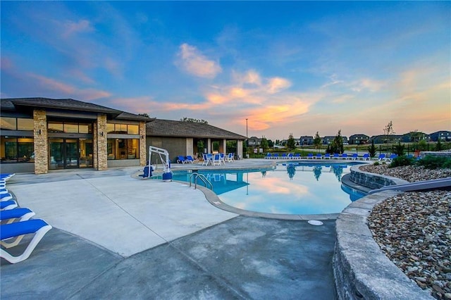
[[[451,130],[450,1],[1,1],[1,98],[288,139]]]

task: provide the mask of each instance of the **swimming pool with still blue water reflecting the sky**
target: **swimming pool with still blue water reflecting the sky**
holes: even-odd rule
[[[219,199],[246,211],[280,214],[340,213],[365,194],[342,187],[341,177],[357,163],[278,163],[266,170],[199,170]],[[174,172],[173,180],[190,181]],[[197,183],[200,185],[201,181]]]

